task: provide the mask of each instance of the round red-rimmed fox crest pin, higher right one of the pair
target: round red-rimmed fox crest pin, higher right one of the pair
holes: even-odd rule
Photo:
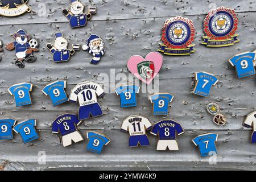
[[[207,47],[232,46],[239,42],[236,34],[238,18],[234,10],[218,7],[208,13],[204,19],[204,44]]]

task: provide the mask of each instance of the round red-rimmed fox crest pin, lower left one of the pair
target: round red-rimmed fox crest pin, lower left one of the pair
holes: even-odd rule
[[[162,44],[159,52],[164,55],[190,55],[195,52],[192,44],[195,39],[195,28],[192,20],[182,16],[167,19],[162,28]]]

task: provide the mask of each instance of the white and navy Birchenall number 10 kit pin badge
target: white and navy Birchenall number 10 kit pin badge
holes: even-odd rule
[[[71,90],[69,101],[79,101],[79,120],[88,119],[90,115],[98,117],[103,114],[97,96],[100,98],[104,94],[100,84],[90,81],[80,82]]]

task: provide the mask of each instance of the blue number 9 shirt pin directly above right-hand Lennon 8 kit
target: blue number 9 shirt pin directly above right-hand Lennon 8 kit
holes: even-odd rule
[[[170,93],[155,93],[148,97],[152,106],[154,115],[168,115],[169,105],[174,99]]]

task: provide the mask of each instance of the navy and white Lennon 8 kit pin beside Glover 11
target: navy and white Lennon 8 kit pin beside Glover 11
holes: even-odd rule
[[[184,133],[181,125],[171,119],[164,119],[155,123],[153,126],[151,134],[157,136],[158,135],[158,144],[156,150],[179,150],[179,146],[176,139],[177,135],[181,135]]]

